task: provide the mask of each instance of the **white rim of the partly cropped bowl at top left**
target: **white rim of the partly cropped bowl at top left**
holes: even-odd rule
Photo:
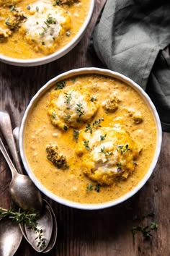
[[[84,36],[84,33],[86,32],[86,29],[91,21],[92,14],[94,12],[94,4],[95,4],[95,0],[89,1],[89,12],[86,16],[86,19],[84,20],[83,25],[81,25],[81,29],[74,36],[74,38],[68,44],[66,44],[66,46],[61,48],[59,51],[55,51],[53,54],[50,54],[48,56],[42,56],[40,58],[35,58],[35,59],[17,59],[17,58],[5,56],[4,54],[0,54],[0,61],[6,64],[12,64],[14,66],[19,66],[19,67],[35,67],[42,64],[48,64],[52,61],[60,59],[62,56],[68,54],[68,52],[71,51],[79,43],[81,38]]]

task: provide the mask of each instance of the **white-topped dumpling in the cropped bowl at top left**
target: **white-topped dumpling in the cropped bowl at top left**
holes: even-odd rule
[[[22,33],[35,51],[50,54],[60,43],[61,36],[71,27],[71,17],[65,9],[50,1],[37,1],[27,7],[30,16],[22,26]]]

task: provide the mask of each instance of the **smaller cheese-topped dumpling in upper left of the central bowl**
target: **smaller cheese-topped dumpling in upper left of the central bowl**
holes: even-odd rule
[[[50,92],[48,114],[52,124],[61,129],[81,127],[98,108],[99,103],[91,97],[88,86],[76,84]]]

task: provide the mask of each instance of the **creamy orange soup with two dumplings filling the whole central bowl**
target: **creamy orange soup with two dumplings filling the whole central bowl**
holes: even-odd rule
[[[36,178],[74,202],[108,202],[130,192],[155,149],[156,124],[146,103],[124,82],[102,75],[56,82],[24,129]]]

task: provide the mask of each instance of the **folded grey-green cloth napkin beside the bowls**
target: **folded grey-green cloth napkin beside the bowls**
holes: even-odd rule
[[[107,68],[138,83],[170,132],[170,1],[107,0],[93,46]]]

